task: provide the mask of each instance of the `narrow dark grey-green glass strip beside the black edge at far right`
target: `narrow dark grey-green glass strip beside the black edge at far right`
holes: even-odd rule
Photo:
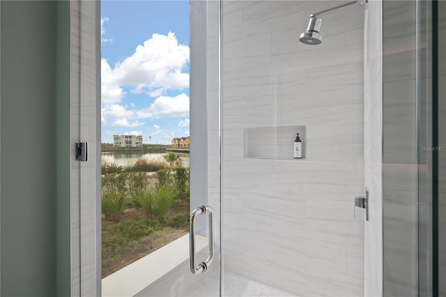
[[[418,22],[418,293],[432,296],[432,15],[417,1]]]

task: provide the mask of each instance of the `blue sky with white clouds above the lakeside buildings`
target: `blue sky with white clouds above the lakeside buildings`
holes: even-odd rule
[[[102,142],[189,136],[189,1],[102,0],[101,81]]]

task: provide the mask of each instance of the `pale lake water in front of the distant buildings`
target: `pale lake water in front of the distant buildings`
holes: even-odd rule
[[[162,155],[166,153],[122,153],[122,152],[102,152],[101,161],[108,164],[116,163],[118,165],[127,166],[133,165],[140,158],[148,161],[164,161]],[[183,167],[189,167],[190,158],[188,153],[175,153],[180,156],[183,161]]]

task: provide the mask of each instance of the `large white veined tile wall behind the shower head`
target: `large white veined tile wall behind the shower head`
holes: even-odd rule
[[[223,3],[224,271],[297,296],[363,294],[364,7],[324,16],[321,45],[298,42],[337,3]],[[307,160],[244,158],[245,128],[288,125],[307,126]]]

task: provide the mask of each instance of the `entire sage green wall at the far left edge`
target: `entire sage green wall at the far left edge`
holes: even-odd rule
[[[0,5],[1,296],[68,296],[69,3]]]

